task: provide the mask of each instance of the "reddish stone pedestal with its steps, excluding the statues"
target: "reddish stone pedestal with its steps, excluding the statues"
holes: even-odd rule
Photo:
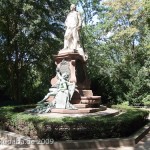
[[[78,110],[60,110],[53,109],[52,112],[57,113],[91,113],[100,111],[100,96],[93,96],[90,90],[90,80],[86,73],[86,62],[78,53],[64,53],[54,56],[55,64],[61,73],[68,72],[70,74],[70,82],[76,83],[76,90],[71,99],[71,103]],[[57,78],[51,80],[54,85]],[[49,99],[50,100],[50,99]]]

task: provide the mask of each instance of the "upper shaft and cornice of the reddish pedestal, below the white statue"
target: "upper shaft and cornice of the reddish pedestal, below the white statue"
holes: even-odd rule
[[[68,62],[70,69],[70,82],[75,82],[78,89],[90,89],[90,81],[86,74],[86,62],[78,53],[55,55],[55,64],[61,67],[61,62]],[[66,70],[65,70],[66,71]]]

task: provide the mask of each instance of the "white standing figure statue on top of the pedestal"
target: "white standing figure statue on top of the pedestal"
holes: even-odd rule
[[[75,4],[70,6],[70,13],[67,15],[65,26],[66,32],[64,36],[64,48],[59,51],[59,54],[68,52],[77,52],[86,61],[87,56],[84,54],[83,48],[80,46],[79,30],[81,28],[81,15],[76,11]]]

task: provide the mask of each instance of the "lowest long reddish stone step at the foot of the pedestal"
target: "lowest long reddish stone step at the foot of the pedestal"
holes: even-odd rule
[[[100,111],[100,108],[83,108],[83,109],[52,109],[52,113],[61,113],[61,114],[83,114],[83,113],[94,113]]]

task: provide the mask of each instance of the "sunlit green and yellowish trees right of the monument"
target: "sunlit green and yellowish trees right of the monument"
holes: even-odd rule
[[[88,10],[99,10],[97,23],[87,22],[82,39],[94,93],[103,103],[142,104],[150,91],[148,2],[107,0],[96,7],[91,3]]]

